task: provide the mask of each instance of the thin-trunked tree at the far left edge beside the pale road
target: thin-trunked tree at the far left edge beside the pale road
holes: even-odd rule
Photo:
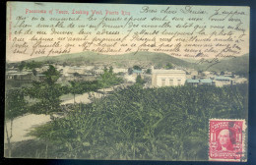
[[[11,139],[13,138],[13,121],[15,118],[28,112],[28,103],[24,96],[24,90],[20,88],[14,88],[6,91],[5,122],[7,120],[11,123],[10,131],[8,131],[7,125],[5,124],[9,158],[12,156]]]

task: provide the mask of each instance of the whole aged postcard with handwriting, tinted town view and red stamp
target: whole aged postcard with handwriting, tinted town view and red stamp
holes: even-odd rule
[[[249,14],[9,2],[5,156],[246,161]]]

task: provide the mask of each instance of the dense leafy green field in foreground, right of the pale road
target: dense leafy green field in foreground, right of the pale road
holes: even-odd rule
[[[76,104],[32,135],[55,146],[54,158],[207,160],[209,119],[246,118],[246,91],[246,85],[134,85]]]

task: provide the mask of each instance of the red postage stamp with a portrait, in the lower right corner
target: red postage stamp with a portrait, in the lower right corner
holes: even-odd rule
[[[210,120],[209,160],[246,161],[245,121]]]

